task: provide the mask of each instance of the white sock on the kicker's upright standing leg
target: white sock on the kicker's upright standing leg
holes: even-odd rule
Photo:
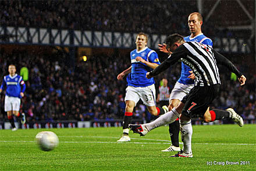
[[[191,125],[191,120],[180,120],[180,134],[182,136],[183,151],[186,154],[190,154],[192,152],[192,149],[191,149],[192,133],[193,133],[193,129]]]

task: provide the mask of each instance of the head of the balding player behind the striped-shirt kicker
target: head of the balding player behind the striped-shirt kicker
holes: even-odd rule
[[[192,34],[197,35],[201,33],[202,15],[200,13],[191,13],[187,19],[187,23],[189,24],[189,30]]]

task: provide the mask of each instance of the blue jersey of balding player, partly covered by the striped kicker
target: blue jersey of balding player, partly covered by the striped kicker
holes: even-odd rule
[[[204,34],[199,34],[194,38],[191,38],[190,35],[189,35],[187,37],[184,37],[184,40],[185,41],[200,42],[201,44],[210,45],[212,47],[212,40],[210,38],[206,37]],[[190,67],[185,65],[182,62],[182,73],[180,74],[180,78],[178,80],[179,83],[194,84],[194,80],[187,78],[191,74],[191,73],[189,73],[189,71],[191,71]]]

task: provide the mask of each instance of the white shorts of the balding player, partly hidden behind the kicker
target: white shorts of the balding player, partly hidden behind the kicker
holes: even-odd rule
[[[183,97],[185,95],[188,95],[189,91],[193,87],[194,87],[194,84],[182,84],[182,83],[176,82],[172,92],[170,93],[169,102],[171,99],[179,99],[179,101],[182,101]]]

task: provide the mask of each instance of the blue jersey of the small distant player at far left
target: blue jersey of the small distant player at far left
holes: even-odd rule
[[[23,88],[21,90],[20,85],[23,85]],[[26,84],[24,83],[22,76],[19,76],[18,74],[15,74],[14,76],[4,76],[3,77],[3,83],[1,85],[1,89],[6,87],[6,95],[9,97],[19,97],[20,92],[24,92],[26,89]]]

